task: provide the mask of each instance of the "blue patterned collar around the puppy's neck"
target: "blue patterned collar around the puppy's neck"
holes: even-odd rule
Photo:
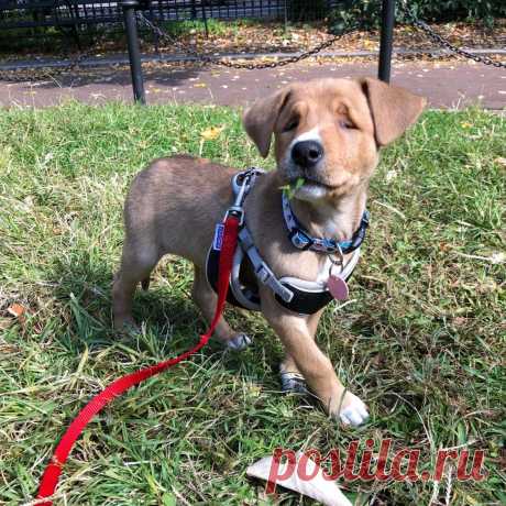
[[[299,250],[312,250],[320,253],[348,254],[355,251],[365,239],[365,230],[369,227],[369,211],[364,211],[359,228],[353,237],[348,241],[337,241],[329,238],[312,238],[301,227],[296,216],[292,211],[288,196],[283,191],[283,216],[285,217],[286,228],[288,229],[288,239],[295,248]]]

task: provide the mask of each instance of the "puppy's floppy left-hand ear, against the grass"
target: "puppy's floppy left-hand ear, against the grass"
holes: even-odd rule
[[[242,118],[248,135],[256,144],[260,154],[265,158],[271,147],[274,125],[283,106],[286,103],[290,89],[284,88],[270,97],[256,100]]]

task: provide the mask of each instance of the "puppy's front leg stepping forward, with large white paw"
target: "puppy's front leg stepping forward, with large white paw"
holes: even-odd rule
[[[346,392],[330,360],[317,346],[315,321],[283,312],[279,307],[265,308],[264,316],[279,336],[289,360],[326,409],[345,425],[358,426],[365,421],[369,417],[365,404]]]

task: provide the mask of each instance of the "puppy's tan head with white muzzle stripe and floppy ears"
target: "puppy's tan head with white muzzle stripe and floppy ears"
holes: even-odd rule
[[[243,122],[264,157],[274,135],[283,182],[305,180],[296,198],[332,199],[371,177],[380,147],[402,135],[425,103],[373,78],[318,79],[258,100]]]

